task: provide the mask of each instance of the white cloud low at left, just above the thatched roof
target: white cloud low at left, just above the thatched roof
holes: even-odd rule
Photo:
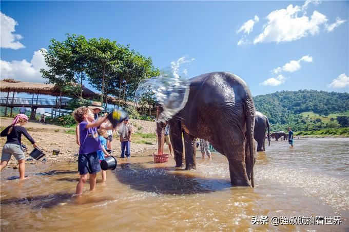
[[[44,51],[46,49],[43,48]],[[48,69],[45,63],[44,55],[41,50],[35,51],[32,59],[28,62],[26,59],[21,61],[0,60],[1,79],[13,78],[15,80],[29,82],[45,82],[42,78],[40,69]]]

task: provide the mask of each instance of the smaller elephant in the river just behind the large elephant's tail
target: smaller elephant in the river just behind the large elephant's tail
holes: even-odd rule
[[[256,111],[254,138],[257,141],[257,152],[265,151],[265,132],[268,129],[268,141],[270,146],[269,120],[261,112]]]

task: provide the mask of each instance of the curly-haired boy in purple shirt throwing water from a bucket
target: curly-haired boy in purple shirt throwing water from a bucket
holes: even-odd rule
[[[100,159],[97,152],[102,150],[97,129],[108,129],[105,128],[105,124],[102,124],[107,120],[107,117],[95,121],[93,112],[88,107],[77,108],[72,115],[79,122],[80,149],[78,169],[80,179],[76,186],[76,194],[81,195],[88,178],[87,174],[90,175],[90,190],[93,191],[95,189],[96,175],[101,171]],[[107,153],[105,155],[108,156],[109,154]]]

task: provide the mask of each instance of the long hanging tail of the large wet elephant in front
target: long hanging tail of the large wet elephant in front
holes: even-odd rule
[[[247,99],[244,102],[244,112],[246,118],[246,129],[247,129],[247,140],[249,147],[249,155],[250,155],[250,173],[251,173],[251,186],[255,187],[254,181],[254,165],[255,165],[255,140],[254,140],[254,128],[255,128],[255,106],[252,99]],[[247,147],[246,147],[247,150]]]

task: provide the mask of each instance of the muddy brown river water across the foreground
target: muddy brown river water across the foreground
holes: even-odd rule
[[[175,170],[173,159],[154,164],[151,156],[118,158],[107,181],[98,174],[96,190],[89,192],[86,184],[79,198],[72,197],[77,163],[28,164],[25,181],[6,168],[1,230],[349,229],[349,139],[296,139],[294,149],[272,141],[266,150],[257,156],[255,188],[231,187],[227,159],[202,159],[200,151],[196,171]]]

